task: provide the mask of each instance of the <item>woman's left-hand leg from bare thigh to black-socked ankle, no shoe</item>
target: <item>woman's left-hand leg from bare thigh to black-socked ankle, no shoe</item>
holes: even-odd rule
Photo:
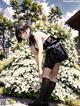
[[[40,93],[39,93],[39,99],[40,101],[46,102],[46,94],[48,92],[48,89],[50,87],[50,74],[51,74],[51,69],[44,67],[43,68],[43,77],[42,77],[42,83],[41,83],[41,88],[40,88]]]

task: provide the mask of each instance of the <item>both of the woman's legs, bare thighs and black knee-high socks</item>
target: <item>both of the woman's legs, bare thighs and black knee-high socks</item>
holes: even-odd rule
[[[59,66],[60,63],[55,63],[52,69],[44,67],[42,84],[39,94],[40,101],[47,102],[50,98],[51,93],[55,89]]]

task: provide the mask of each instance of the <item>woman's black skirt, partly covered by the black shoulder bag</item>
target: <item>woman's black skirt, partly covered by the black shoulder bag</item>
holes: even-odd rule
[[[47,47],[51,46],[55,42],[58,42],[60,39],[61,38],[54,38],[53,36],[49,36],[46,39],[45,43],[43,44],[43,48],[45,50],[45,60],[43,67],[48,67],[52,69],[55,63],[57,63],[55,61],[54,49],[53,48],[47,49]]]

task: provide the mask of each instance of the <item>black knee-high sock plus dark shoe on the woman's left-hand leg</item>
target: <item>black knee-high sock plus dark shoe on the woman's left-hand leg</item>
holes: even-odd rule
[[[48,102],[45,101],[49,87],[50,87],[50,80],[48,78],[43,78],[39,97],[33,103],[29,103],[29,106],[49,106]]]

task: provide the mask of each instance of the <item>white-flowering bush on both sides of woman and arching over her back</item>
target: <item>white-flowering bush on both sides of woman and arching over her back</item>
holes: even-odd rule
[[[43,24],[43,23],[42,23]],[[46,24],[46,27],[44,27]],[[58,83],[52,96],[58,97],[64,101],[64,98],[79,98],[80,95],[80,71],[74,67],[77,61],[77,52],[75,44],[71,36],[70,30],[65,30],[64,27],[45,23],[40,25],[37,23],[39,30],[45,30],[46,33],[55,37],[63,37],[63,44],[68,52],[69,59],[61,63],[57,76]],[[33,25],[34,28],[34,25]],[[14,39],[14,38],[13,38]],[[15,40],[14,44],[15,44]],[[38,67],[34,59],[31,49],[25,42],[13,49],[10,55],[14,55],[15,60],[0,73],[0,82],[5,84],[8,95],[31,96],[36,94],[40,88],[40,79],[38,77]]]

